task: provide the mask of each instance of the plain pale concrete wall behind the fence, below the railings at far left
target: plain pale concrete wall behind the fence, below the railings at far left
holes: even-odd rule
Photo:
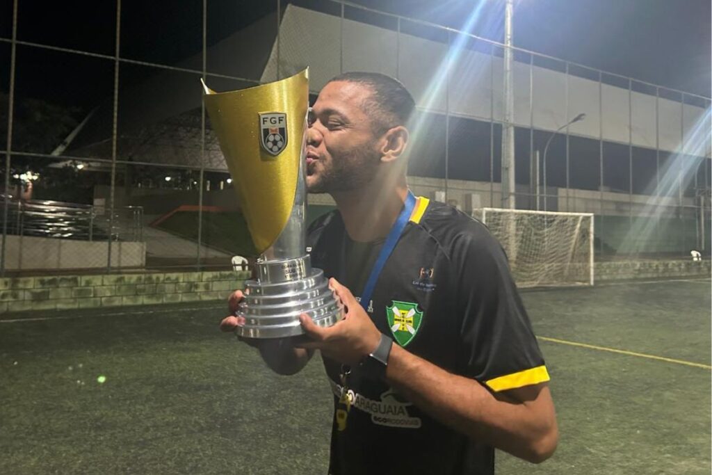
[[[5,268],[9,271],[102,268],[108,262],[108,241],[9,235],[5,246]],[[145,264],[145,243],[119,241],[111,244],[112,267],[143,268]]]

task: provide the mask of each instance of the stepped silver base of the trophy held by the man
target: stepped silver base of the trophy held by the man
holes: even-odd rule
[[[343,305],[309,256],[288,261],[258,261],[258,279],[245,282],[244,300],[235,315],[235,333],[244,338],[303,335],[299,315],[328,327],[343,318]]]

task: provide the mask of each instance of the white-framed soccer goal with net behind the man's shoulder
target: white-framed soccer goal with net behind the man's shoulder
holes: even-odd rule
[[[593,285],[593,214],[482,208],[518,287]]]

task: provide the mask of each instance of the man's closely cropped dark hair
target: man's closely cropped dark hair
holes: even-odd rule
[[[415,100],[403,83],[388,75],[355,71],[337,75],[329,82],[336,81],[365,84],[371,88],[373,96],[362,107],[375,119],[375,130],[379,132],[407,125],[415,110]]]

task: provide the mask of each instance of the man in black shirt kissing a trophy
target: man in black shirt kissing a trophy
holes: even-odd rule
[[[414,108],[401,83],[375,73],[321,90],[307,186],[337,212],[308,241],[345,318],[320,328],[302,315],[306,343],[251,344],[282,374],[320,350],[335,395],[330,474],[492,474],[494,447],[538,463],[558,437],[543,357],[486,227],[409,194]],[[235,325],[230,316],[221,328]]]

